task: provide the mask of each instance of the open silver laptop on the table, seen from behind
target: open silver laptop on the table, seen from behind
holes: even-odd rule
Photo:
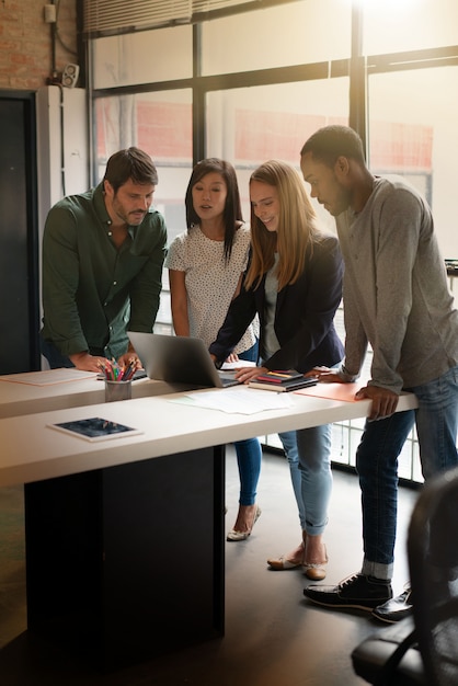
[[[150,379],[203,388],[237,386],[234,371],[218,371],[204,341],[180,335],[128,331]]]

